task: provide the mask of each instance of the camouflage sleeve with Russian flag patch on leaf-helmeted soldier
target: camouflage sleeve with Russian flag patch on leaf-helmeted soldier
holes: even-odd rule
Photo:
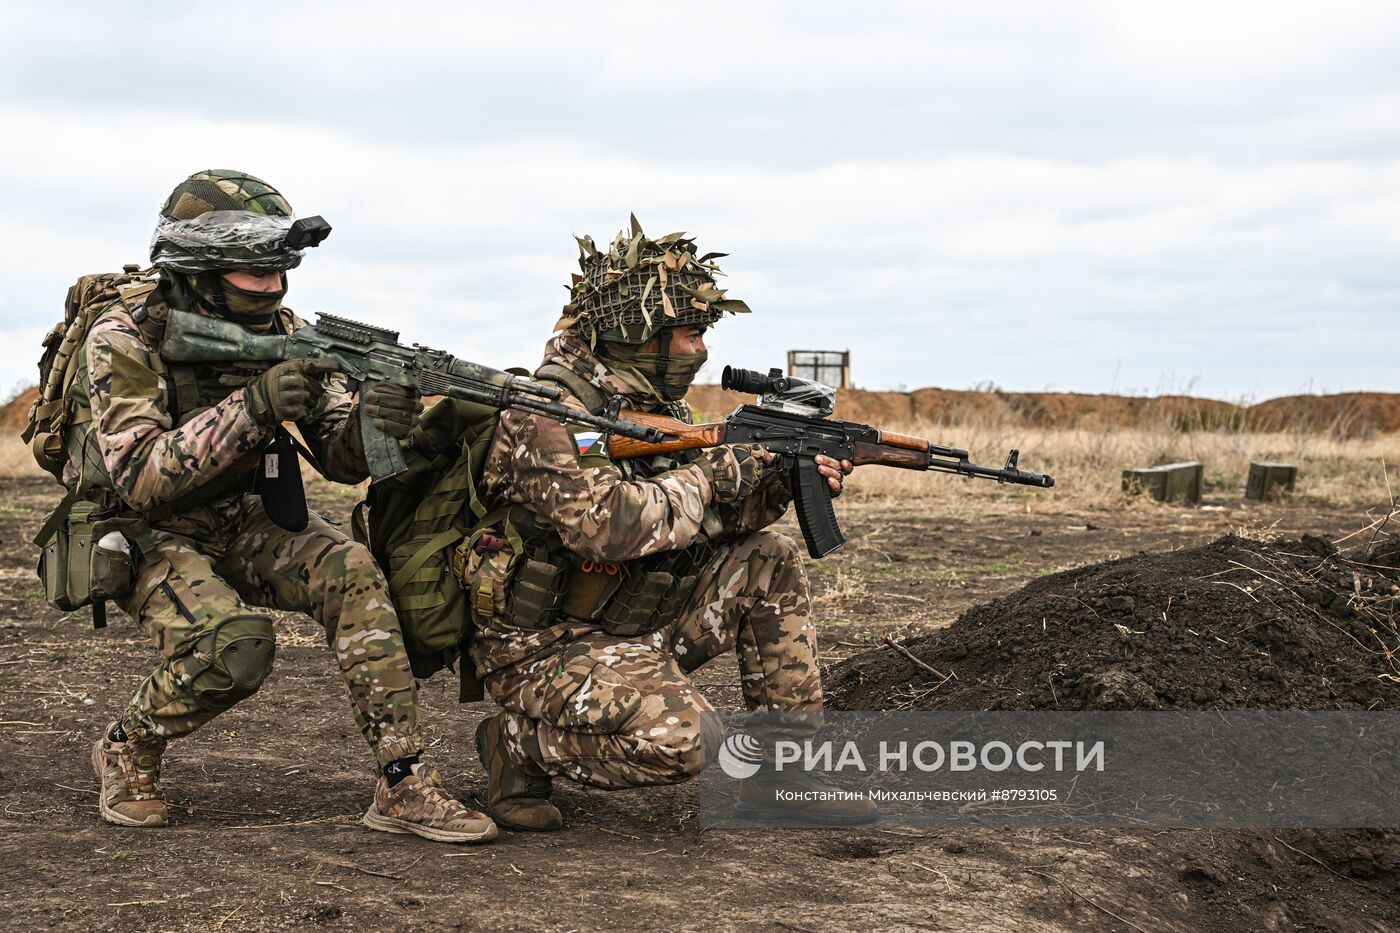
[[[487,493],[525,506],[591,560],[636,560],[694,541],[713,496],[699,466],[627,481],[601,451],[580,454],[587,438],[549,417],[504,412]]]

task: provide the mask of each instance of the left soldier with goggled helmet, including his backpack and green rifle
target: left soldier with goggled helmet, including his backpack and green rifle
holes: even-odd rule
[[[357,483],[395,469],[419,389],[546,410],[553,389],[398,347],[374,328],[307,328],[281,304],[287,270],[328,233],[251,175],[199,172],[161,209],[154,269],[81,279],[46,340],[25,440],[69,489],[36,539],[46,594],[63,609],[91,604],[98,625],[116,602],[162,656],[92,748],[109,822],[165,825],[161,754],[267,678],[270,607],[325,626],[381,772],[364,822],[442,842],[496,836],[421,761],[384,573],[363,544],[308,516],[283,423],[326,478]],[[246,353],[227,352],[232,335]]]

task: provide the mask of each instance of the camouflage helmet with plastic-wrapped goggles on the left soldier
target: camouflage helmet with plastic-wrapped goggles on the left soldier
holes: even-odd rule
[[[195,172],[161,205],[151,262],[197,273],[210,269],[293,269],[301,251],[284,244],[295,214],[281,192],[228,168]]]

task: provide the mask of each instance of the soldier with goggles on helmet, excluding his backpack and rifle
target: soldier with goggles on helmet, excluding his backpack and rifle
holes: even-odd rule
[[[258,691],[276,636],[272,618],[255,607],[273,607],[308,612],[326,629],[382,770],[365,824],[442,842],[494,838],[490,818],[448,796],[419,761],[416,685],[370,552],[319,516],[302,531],[277,527],[251,495],[260,454],[283,422],[295,422],[329,479],[365,478],[358,410],[343,377],[319,360],[199,367],[161,360],[168,308],[255,332],[304,326],[281,305],[286,270],[302,255],[286,244],[291,206],[251,175],[207,171],[182,182],[161,214],[151,244],[158,280],[123,291],[99,314],[76,381],[91,422],[74,429],[85,436],[69,469],[137,517],[141,563],[122,602],[164,656],[92,749],[102,817],[165,825],[158,783],[165,744]],[[420,408],[388,384],[358,405],[395,437],[409,433]]]

